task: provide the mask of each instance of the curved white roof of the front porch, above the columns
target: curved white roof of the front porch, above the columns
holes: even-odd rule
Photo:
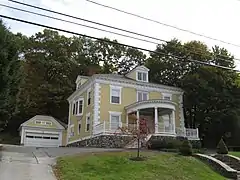
[[[124,109],[129,112],[137,111],[139,109],[146,109],[146,108],[166,108],[175,110],[175,106],[177,104],[171,100],[165,99],[151,99],[146,101],[139,101],[128,106],[125,106]]]

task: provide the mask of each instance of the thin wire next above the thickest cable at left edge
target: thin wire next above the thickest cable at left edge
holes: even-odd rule
[[[76,22],[73,22],[73,21],[60,19],[60,18],[56,18],[56,17],[53,17],[53,16],[48,16],[48,15],[45,15],[45,14],[36,13],[36,12],[32,12],[32,11],[28,11],[28,10],[12,7],[12,6],[8,6],[8,5],[4,5],[4,4],[1,4],[1,3],[0,3],[0,6],[6,7],[6,8],[10,8],[10,9],[14,9],[14,10],[18,10],[18,11],[22,11],[22,12],[26,12],[26,13],[30,13],[30,14],[35,14],[35,15],[46,17],[46,18],[50,18],[50,19],[55,19],[55,20],[62,21],[62,22],[67,22],[67,23],[71,23],[71,24],[75,24],[75,25],[79,25],[79,26],[83,26],[83,27],[99,30],[99,31],[103,31],[103,32],[107,32],[107,33],[111,33],[111,34],[116,34],[116,35],[123,36],[123,37],[136,39],[136,40],[139,40],[139,41],[144,41],[144,42],[148,42],[148,43],[152,43],[152,44],[156,44],[156,45],[159,44],[157,42],[153,42],[153,41],[149,41],[149,40],[145,40],[145,39],[141,39],[141,38],[137,38],[137,37],[133,37],[133,36],[129,36],[129,35],[113,32],[113,31],[108,31],[108,30],[105,30],[105,29],[100,29],[100,28],[97,28],[97,27],[88,26],[88,25],[76,23]]]

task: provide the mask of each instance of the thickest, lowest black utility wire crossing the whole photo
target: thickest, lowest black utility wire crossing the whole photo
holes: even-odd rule
[[[222,68],[222,69],[226,69],[226,70],[232,70],[232,71],[240,72],[239,70],[234,70],[232,68],[225,67],[225,66],[214,65],[214,64],[210,64],[210,63],[207,63],[207,62],[202,62],[202,61],[199,61],[199,60],[185,59],[184,57],[179,57],[179,56],[170,55],[170,54],[166,54],[166,53],[156,52],[156,51],[152,51],[152,50],[141,48],[141,47],[136,47],[136,46],[132,46],[132,45],[118,43],[116,41],[110,41],[110,40],[107,40],[107,39],[97,38],[97,37],[89,36],[89,35],[85,35],[85,34],[80,34],[80,33],[68,31],[68,30],[65,30],[65,29],[56,28],[56,27],[53,27],[53,26],[48,26],[48,25],[44,25],[44,24],[31,22],[31,21],[26,21],[26,20],[23,20],[23,19],[18,19],[18,18],[14,18],[14,17],[10,17],[10,16],[5,16],[5,15],[2,15],[2,14],[0,14],[0,17],[6,18],[6,19],[11,19],[11,20],[14,20],[14,21],[19,21],[19,22],[22,22],[22,23],[25,23],[25,24],[31,24],[31,25],[35,25],[35,26],[48,28],[48,29],[53,29],[53,30],[56,30],[56,31],[61,31],[61,32],[69,33],[69,34],[74,34],[74,35],[78,35],[78,36],[81,36],[81,37],[95,39],[95,40],[102,41],[102,42],[105,42],[105,43],[125,46],[125,47],[128,47],[128,48],[138,49],[138,50],[142,50],[142,51],[148,51],[148,52],[155,53],[155,54],[158,54],[158,55],[167,55],[167,56],[174,57],[174,58],[177,58],[177,59],[183,60],[183,61],[190,61],[190,62],[203,64],[203,65],[207,65],[207,66],[212,66],[212,67],[217,67],[217,68]],[[179,60],[177,60],[177,61],[179,61]]]

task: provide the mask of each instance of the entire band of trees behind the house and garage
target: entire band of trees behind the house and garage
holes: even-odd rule
[[[198,127],[204,142],[216,144],[229,132],[232,139],[237,137],[239,74],[191,61],[233,68],[233,55],[219,46],[209,48],[203,42],[178,39],[159,44],[155,52],[145,54],[100,40],[66,37],[49,29],[27,37],[13,34],[0,21],[1,130],[17,132],[23,121],[36,114],[67,122],[66,99],[75,89],[77,75],[88,75],[92,68],[99,73],[125,74],[145,64],[150,81],[185,91],[186,127]]]

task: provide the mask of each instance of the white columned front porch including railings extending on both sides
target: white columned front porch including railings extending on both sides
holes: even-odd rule
[[[125,118],[119,123],[103,121],[93,126],[93,135],[118,134],[127,129],[139,127],[139,119],[145,119],[149,134],[159,136],[184,136],[199,139],[198,129],[187,129],[176,126],[177,104],[170,100],[147,100],[130,104],[124,108]]]

